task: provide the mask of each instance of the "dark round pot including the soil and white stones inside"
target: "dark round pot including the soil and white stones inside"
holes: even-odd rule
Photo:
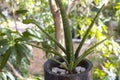
[[[60,58],[59,61],[63,62]],[[91,69],[92,63],[84,59],[76,66],[73,73],[69,74],[60,64],[49,59],[44,64],[44,75],[45,80],[92,80]]]

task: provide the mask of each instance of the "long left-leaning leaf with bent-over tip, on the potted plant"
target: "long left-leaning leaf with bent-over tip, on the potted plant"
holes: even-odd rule
[[[50,40],[54,41],[55,44],[65,53],[67,54],[67,51],[65,50],[65,48],[59,43],[57,42],[53,37],[51,37],[40,25],[39,22],[37,22],[36,20],[34,19],[26,19],[26,20],[23,20],[23,23],[25,24],[29,24],[29,23],[33,23],[35,24]]]

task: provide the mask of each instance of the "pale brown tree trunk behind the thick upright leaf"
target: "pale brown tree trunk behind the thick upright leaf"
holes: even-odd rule
[[[62,44],[62,46],[64,46],[64,31],[63,31],[63,22],[61,19],[60,10],[55,0],[49,0],[49,4],[50,4],[51,12],[53,15],[53,19],[54,19],[55,38],[60,44]],[[58,48],[57,46],[56,46],[56,49],[57,51],[59,51],[59,53],[62,53],[60,48]]]

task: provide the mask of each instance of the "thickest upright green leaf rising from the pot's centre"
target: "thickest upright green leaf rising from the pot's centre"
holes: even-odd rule
[[[69,22],[68,22],[68,17],[66,14],[66,10],[64,5],[62,4],[62,0],[57,0],[61,16],[62,16],[62,21],[63,21],[63,29],[64,29],[64,35],[65,35],[65,46],[66,46],[66,51],[67,51],[67,60],[69,63],[69,69],[70,72],[72,71],[73,63],[74,63],[74,51],[73,51],[73,43],[72,43],[72,33],[70,30]]]

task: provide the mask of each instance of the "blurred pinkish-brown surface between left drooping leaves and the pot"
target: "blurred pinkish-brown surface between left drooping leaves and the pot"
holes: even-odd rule
[[[43,74],[43,64],[45,61],[44,51],[33,48],[33,60],[31,60],[28,72],[32,75]]]

